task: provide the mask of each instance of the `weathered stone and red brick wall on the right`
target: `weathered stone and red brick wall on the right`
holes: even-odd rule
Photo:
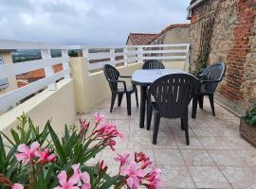
[[[238,113],[256,99],[255,5],[255,0],[205,0],[192,9],[191,71],[197,66],[201,25],[214,17],[208,63],[227,63],[218,96]]]

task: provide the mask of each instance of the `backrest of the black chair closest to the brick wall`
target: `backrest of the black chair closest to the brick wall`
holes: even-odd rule
[[[213,63],[209,65],[202,73],[202,80],[212,80],[218,82],[207,82],[202,85],[201,91],[212,94],[216,90],[218,83],[225,76],[227,65],[224,62]]]

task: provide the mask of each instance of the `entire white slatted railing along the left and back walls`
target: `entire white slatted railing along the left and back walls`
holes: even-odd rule
[[[70,78],[68,50],[82,49],[82,54],[88,63],[88,70],[99,70],[106,63],[128,66],[132,62],[142,60],[164,60],[189,62],[190,44],[155,44],[141,46],[101,46],[88,47],[82,45],[51,45],[44,43],[24,43],[14,41],[0,41],[0,51],[3,50],[40,50],[42,60],[30,60],[19,63],[0,65],[0,79],[16,77],[27,72],[45,69],[46,77],[27,84],[26,86],[0,95],[0,111],[5,112],[10,106],[20,102],[30,94],[42,89],[56,90],[56,81],[60,78]],[[50,50],[62,50],[61,58],[51,58]],[[54,73],[53,65],[63,64],[63,70]],[[185,63],[185,65],[186,65]]]

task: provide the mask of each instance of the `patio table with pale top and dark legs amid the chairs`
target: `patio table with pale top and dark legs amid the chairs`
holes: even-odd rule
[[[176,69],[137,70],[134,72],[132,76],[132,83],[140,86],[139,128],[144,128],[147,88],[157,78],[164,77],[170,74],[188,73]]]

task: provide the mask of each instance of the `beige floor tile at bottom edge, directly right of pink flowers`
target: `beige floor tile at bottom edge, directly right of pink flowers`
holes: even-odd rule
[[[162,170],[163,188],[195,188],[186,166],[163,164],[157,167]]]

